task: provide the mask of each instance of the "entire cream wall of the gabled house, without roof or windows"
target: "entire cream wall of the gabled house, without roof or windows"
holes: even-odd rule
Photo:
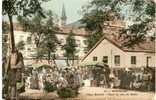
[[[120,65],[114,64],[114,55],[120,55]],[[97,56],[98,61],[102,62],[103,56],[108,56],[108,65],[110,67],[145,67],[146,57],[150,56],[149,66],[155,66],[154,53],[145,52],[124,52],[108,40],[104,39],[81,63],[93,62],[93,57]],[[136,56],[136,65],[131,64],[131,56]]]

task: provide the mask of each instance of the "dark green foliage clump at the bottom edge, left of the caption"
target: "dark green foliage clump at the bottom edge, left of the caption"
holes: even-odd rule
[[[61,98],[71,98],[77,96],[76,90],[73,90],[72,88],[61,88],[57,90],[57,94]]]

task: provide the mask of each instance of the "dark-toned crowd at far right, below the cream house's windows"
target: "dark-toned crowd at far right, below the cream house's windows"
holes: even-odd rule
[[[135,70],[122,70],[118,75],[120,88],[153,91],[155,85],[155,72],[154,69],[144,68],[140,71]]]

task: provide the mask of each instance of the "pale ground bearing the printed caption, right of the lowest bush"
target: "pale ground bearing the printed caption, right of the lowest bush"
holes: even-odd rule
[[[83,87],[80,89],[79,97],[81,100],[154,100],[154,93],[101,87]]]

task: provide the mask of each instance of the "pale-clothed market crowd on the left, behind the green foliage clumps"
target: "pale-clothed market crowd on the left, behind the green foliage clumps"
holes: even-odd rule
[[[61,87],[80,87],[82,85],[82,77],[80,71],[76,68],[42,68],[42,70],[32,69],[26,78],[26,88],[44,89],[44,82]]]

